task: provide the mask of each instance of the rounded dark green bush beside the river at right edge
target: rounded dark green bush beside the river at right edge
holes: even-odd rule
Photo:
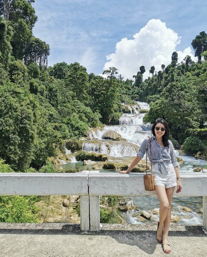
[[[207,149],[207,141],[196,137],[187,137],[183,143],[185,153],[196,154],[198,151],[204,152]]]

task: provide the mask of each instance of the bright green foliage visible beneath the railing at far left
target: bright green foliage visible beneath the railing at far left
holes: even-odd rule
[[[39,222],[37,196],[2,196],[0,195],[0,222]]]

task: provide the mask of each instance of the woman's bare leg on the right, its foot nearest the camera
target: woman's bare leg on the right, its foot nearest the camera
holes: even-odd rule
[[[168,198],[168,203],[169,203],[169,207],[168,207],[168,213],[167,216],[164,220],[164,235],[163,235],[163,243],[169,243],[168,242],[168,232],[169,232],[169,227],[170,227],[170,218],[171,218],[171,201],[173,198],[173,192],[174,192],[175,186],[170,187],[170,188],[166,188],[166,195]],[[165,252],[170,252],[170,250],[164,250]]]

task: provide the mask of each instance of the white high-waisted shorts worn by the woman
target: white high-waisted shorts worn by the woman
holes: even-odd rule
[[[177,176],[172,162],[167,163],[168,172],[162,164],[162,174],[158,169],[158,163],[152,164],[152,175],[154,175],[155,186],[164,186],[165,188],[177,186]]]

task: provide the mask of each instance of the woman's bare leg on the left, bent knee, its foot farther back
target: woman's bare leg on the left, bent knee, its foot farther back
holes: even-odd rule
[[[155,186],[155,192],[160,202],[160,224],[157,233],[158,236],[162,235],[161,231],[163,232],[164,220],[166,219],[169,209],[169,201],[165,190],[164,186]],[[162,240],[159,240],[159,242],[162,242]]]

